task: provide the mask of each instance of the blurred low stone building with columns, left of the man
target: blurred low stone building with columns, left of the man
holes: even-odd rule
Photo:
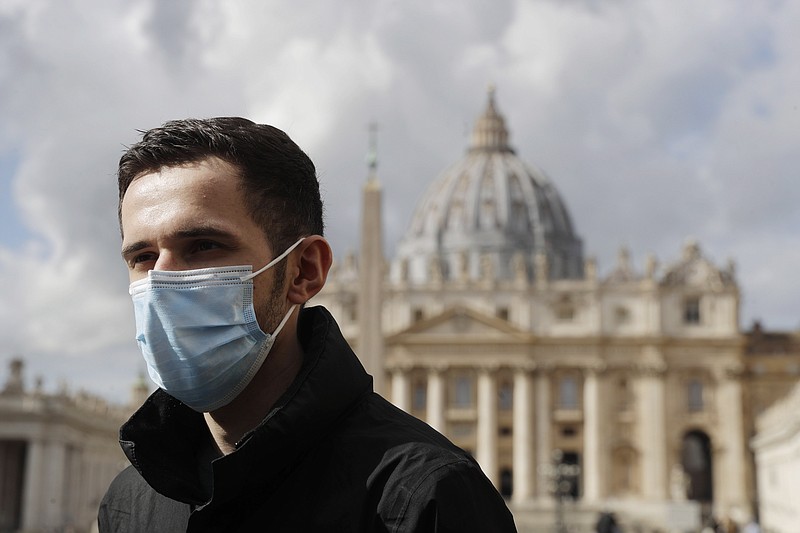
[[[0,391],[0,531],[91,531],[127,463],[117,439],[128,415],[86,393],[28,390],[12,360]]]

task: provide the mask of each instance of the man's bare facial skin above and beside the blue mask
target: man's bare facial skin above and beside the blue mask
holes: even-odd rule
[[[267,264],[275,254],[247,212],[240,180],[234,166],[215,157],[136,178],[121,209],[122,257],[131,281],[149,270],[232,265],[256,270]],[[253,304],[265,332],[288,309],[283,291],[273,294],[276,282],[283,288],[275,272],[269,269],[253,280]]]

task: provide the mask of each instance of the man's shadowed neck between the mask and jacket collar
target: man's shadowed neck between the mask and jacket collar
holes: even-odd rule
[[[208,429],[221,453],[228,455],[236,450],[236,443],[264,420],[300,371],[303,349],[297,340],[296,325],[293,317],[239,396],[214,412],[204,413]]]

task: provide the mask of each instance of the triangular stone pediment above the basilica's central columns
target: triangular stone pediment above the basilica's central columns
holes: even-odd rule
[[[524,343],[530,334],[506,320],[463,306],[420,320],[386,339],[387,344],[409,342]]]

